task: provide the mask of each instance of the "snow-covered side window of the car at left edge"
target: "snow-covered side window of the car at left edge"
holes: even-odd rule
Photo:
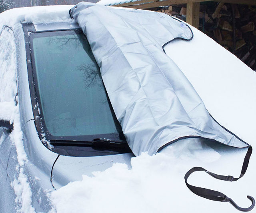
[[[4,26],[0,31],[0,119],[9,121],[15,107],[16,47],[12,29]]]

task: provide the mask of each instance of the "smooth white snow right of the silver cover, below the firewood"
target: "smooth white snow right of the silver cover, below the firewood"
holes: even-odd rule
[[[191,28],[194,38],[171,42],[165,47],[166,54],[184,72],[214,119],[253,145],[256,72],[214,40]]]

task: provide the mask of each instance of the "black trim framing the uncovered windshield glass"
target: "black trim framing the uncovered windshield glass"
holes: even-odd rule
[[[50,140],[74,140],[74,141],[92,141],[94,138],[105,138],[105,139],[112,139],[114,141],[118,141],[120,143],[125,143],[127,144],[124,135],[122,134],[120,137],[120,134],[99,134],[99,135],[75,135],[75,136],[54,136],[51,135],[50,132],[48,131],[45,122],[44,122],[44,115],[40,102],[40,96],[38,96],[38,82],[35,77],[35,60],[34,60],[34,55],[33,55],[33,44],[32,44],[32,39],[41,37],[43,36],[42,34],[49,34],[48,36],[51,36],[50,34],[52,33],[52,36],[56,36],[56,33],[61,32],[61,34],[70,34],[70,31],[76,32],[76,33],[82,33],[81,29],[78,28],[73,28],[73,29],[63,29],[63,30],[46,30],[46,31],[30,31],[31,26],[28,24],[22,24],[23,25],[23,30],[24,30],[24,36],[25,36],[25,46],[26,46],[26,58],[27,58],[27,68],[28,68],[28,80],[29,80],[29,87],[30,87],[30,96],[31,96],[31,102],[32,102],[32,110],[34,114],[34,123],[36,126],[36,130],[38,132],[38,136],[42,143],[51,151],[54,151],[56,153],[58,152],[58,149],[52,149],[49,147],[48,143],[46,141]],[[55,33],[56,32],[56,33]],[[103,84],[104,85],[104,84]],[[108,98],[108,96],[107,96]],[[108,99],[109,100],[109,99]],[[111,104],[110,104],[111,105]],[[39,110],[38,110],[39,107]],[[112,106],[110,106],[112,108]],[[40,111],[40,113],[39,113]],[[102,151],[101,151],[102,152]],[[120,153],[127,153],[128,151],[106,151],[105,154],[98,154],[98,155],[106,155],[107,153],[109,154],[120,154]],[[70,154],[63,154],[62,155],[70,155]],[[73,156],[73,155],[72,155]],[[82,155],[79,155],[82,156]],[[90,156],[88,153],[84,153],[84,156]],[[95,153],[93,154],[95,156]]]

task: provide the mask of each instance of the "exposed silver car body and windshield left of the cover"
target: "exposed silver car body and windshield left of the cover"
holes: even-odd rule
[[[27,177],[32,206],[37,212],[48,212],[52,177],[53,186],[59,188],[113,162],[129,164],[134,156],[82,30],[70,18],[52,21],[1,26],[1,212],[14,212],[22,205],[22,200],[13,205],[19,197],[20,175]],[[18,109],[16,127],[19,121],[12,117]],[[16,134],[22,134],[18,140],[12,138]]]

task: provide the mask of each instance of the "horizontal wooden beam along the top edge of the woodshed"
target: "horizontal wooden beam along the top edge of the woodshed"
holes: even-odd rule
[[[163,1],[156,2],[155,0],[140,0],[135,2],[128,2],[124,4],[116,4],[112,6],[148,9],[148,8],[155,8],[159,6],[168,6],[168,5],[174,5],[174,4],[187,4],[188,2],[195,3],[195,2],[208,2],[208,1],[209,0],[163,0]],[[256,0],[213,0],[213,1],[231,3],[231,4],[256,5]]]

